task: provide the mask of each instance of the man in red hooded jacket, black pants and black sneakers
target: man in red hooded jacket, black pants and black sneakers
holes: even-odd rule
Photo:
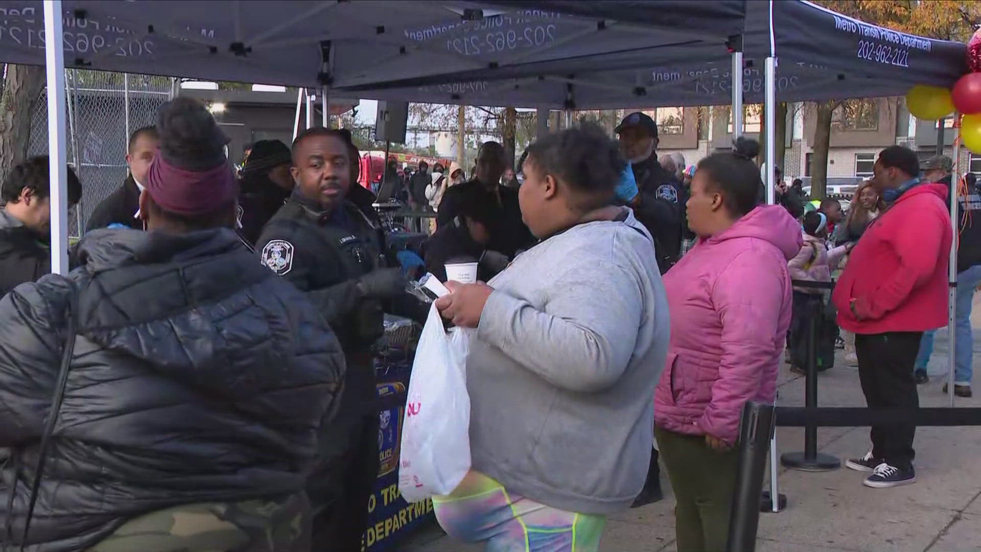
[[[919,160],[891,145],[873,168],[889,204],[852,249],[835,287],[838,324],[854,332],[858,376],[869,408],[919,407],[913,362],[925,330],[947,324],[950,214],[947,187],[921,183]],[[892,487],[916,480],[916,426],[872,426],[872,450],[846,464],[871,472],[865,485]]]

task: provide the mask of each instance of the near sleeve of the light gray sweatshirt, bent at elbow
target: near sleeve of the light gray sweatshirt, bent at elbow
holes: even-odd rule
[[[644,301],[637,277],[612,263],[580,262],[551,289],[541,308],[494,291],[478,339],[557,387],[590,393],[612,386],[637,342]]]

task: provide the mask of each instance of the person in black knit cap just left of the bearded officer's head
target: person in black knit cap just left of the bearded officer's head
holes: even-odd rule
[[[289,148],[282,141],[261,139],[252,145],[238,181],[238,222],[249,244],[255,244],[262,228],[292,193],[289,164]]]

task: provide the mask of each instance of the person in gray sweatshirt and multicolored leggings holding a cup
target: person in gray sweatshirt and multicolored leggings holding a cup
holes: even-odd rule
[[[492,550],[596,550],[641,491],[668,311],[650,235],[612,206],[624,161],[598,128],[528,148],[521,212],[541,242],[442,315],[476,328],[467,360],[472,471],[439,523]],[[518,546],[518,548],[511,548]]]

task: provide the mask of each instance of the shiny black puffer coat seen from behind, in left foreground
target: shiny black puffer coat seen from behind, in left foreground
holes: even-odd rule
[[[344,370],[303,295],[225,229],[97,230],[78,257],[75,352],[26,549],[85,550],[149,512],[303,489]],[[18,543],[72,293],[48,275],[0,301],[0,520],[20,465]]]

